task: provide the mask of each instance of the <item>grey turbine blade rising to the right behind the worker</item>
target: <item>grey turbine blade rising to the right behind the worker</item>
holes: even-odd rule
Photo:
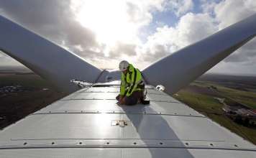
[[[256,14],[204,40],[163,57],[142,71],[151,85],[164,85],[170,95],[244,45],[256,35]]]

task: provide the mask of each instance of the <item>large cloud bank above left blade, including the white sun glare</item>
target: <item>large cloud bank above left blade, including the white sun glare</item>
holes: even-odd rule
[[[152,12],[164,9],[165,0],[118,0],[113,1],[114,4],[106,1],[104,5],[99,5],[102,4],[102,1],[96,2],[73,0],[1,1],[0,11],[9,19],[13,19],[37,34],[81,55],[86,60],[95,61],[99,58],[107,60],[108,55],[116,59],[122,55],[136,55],[137,45],[140,45],[141,42],[137,33],[140,33],[141,27],[152,22]],[[119,4],[123,8],[120,10],[119,6],[115,4]],[[96,14],[85,12],[89,16],[86,17],[82,12],[81,19],[78,19],[79,12],[87,11],[90,8],[91,11],[96,11]],[[114,10],[111,11],[111,9]],[[124,17],[121,20],[127,19],[128,21],[118,21],[120,16]],[[86,25],[93,22],[95,22],[93,25]],[[98,29],[94,30],[95,27]],[[101,40],[101,37],[104,40]],[[118,37],[124,39],[120,40]],[[116,42],[115,45],[113,43],[109,45],[108,42],[111,40]]]

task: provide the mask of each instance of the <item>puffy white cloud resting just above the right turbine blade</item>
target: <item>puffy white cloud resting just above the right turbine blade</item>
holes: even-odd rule
[[[175,27],[158,27],[157,32],[147,37],[147,42],[142,47],[146,61],[154,61],[175,52],[182,47],[202,40],[209,34],[216,32],[214,19],[209,14],[188,13],[180,18]]]

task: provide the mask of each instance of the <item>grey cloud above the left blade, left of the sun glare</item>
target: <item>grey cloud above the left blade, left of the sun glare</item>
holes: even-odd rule
[[[70,1],[1,1],[0,8],[4,16],[69,50],[76,45],[83,50],[100,47],[94,32],[76,21]],[[75,53],[90,55],[84,51]]]

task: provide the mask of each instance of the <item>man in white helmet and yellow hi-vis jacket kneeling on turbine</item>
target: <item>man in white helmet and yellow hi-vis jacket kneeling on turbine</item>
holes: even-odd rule
[[[132,64],[123,60],[119,64],[119,70],[122,72],[120,94],[116,96],[119,104],[135,105],[144,101],[145,84],[142,80],[140,70],[134,68]]]

